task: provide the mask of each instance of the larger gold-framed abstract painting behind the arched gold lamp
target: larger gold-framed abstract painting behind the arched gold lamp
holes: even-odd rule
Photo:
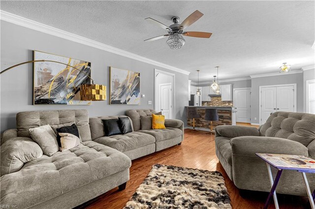
[[[34,62],[34,104],[91,104],[80,100],[80,85],[91,83],[90,62],[38,51],[34,60],[58,61],[82,71],[55,62]]]

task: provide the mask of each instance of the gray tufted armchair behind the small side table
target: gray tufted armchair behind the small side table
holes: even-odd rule
[[[240,126],[216,128],[216,154],[228,177],[240,189],[271,189],[266,163],[255,153],[302,155],[315,159],[315,114],[274,112],[258,129]],[[272,169],[273,175],[277,170]],[[315,174],[307,175],[311,190]],[[285,170],[278,193],[306,195],[302,175]]]

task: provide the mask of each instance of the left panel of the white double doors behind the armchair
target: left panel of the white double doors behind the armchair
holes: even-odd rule
[[[277,109],[277,87],[261,88],[261,124]]]

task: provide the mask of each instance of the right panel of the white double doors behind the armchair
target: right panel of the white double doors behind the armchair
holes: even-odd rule
[[[294,86],[277,87],[277,111],[294,111]]]

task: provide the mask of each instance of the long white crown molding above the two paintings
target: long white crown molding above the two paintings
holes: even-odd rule
[[[124,50],[121,50],[121,49],[118,49],[115,47],[111,47],[111,46],[108,46],[106,44],[102,44],[100,42],[94,41],[92,39],[88,39],[88,38],[85,38],[85,37],[82,37],[82,36],[61,30],[61,29],[58,29],[56,27],[47,26],[45,24],[38,23],[38,22],[32,21],[30,19],[12,14],[12,13],[9,13],[9,12],[3,11],[3,10],[0,10],[0,20],[15,24],[18,26],[23,26],[23,27],[27,27],[27,28],[30,28],[33,30],[37,30],[37,31],[40,31],[43,33],[47,33],[49,35],[57,36],[57,37],[60,37],[63,39],[67,39],[69,41],[73,41],[76,43],[80,43],[80,44],[84,44],[84,45],[87,45],[90,47],[94,47],[96,49],[100,49],[100,50],[103,50],[106,52],[111,52],[111,53],[115,53],[118,55],[122,55],[122,56],[125,56],[128,58],[131,58],[131,59],[135,59],[135,60],[138,60],[141,62],[152,64],[152,65],[162,67],[162,68],[165,68],[168,70],[172,70],[172,71],[175,71],[178,73],[182,73],[185,75],[190,74],[190,72],[188,72],[186,70],[176,68],[176,67],[173,67],[173,66],[170,66],[170,65],[167,65],[167,64],[164,64],[164,63],[161,63],[161,62],[158,62],[158,61],[155,61],[155,60],[152,60],[152,59],[149,59],[149,58],[146,58],[144,56],[140,56],[140,55],[137,55],[137,54],[134,54],[131,52],[127,52],[127,51],[124,51]]]

